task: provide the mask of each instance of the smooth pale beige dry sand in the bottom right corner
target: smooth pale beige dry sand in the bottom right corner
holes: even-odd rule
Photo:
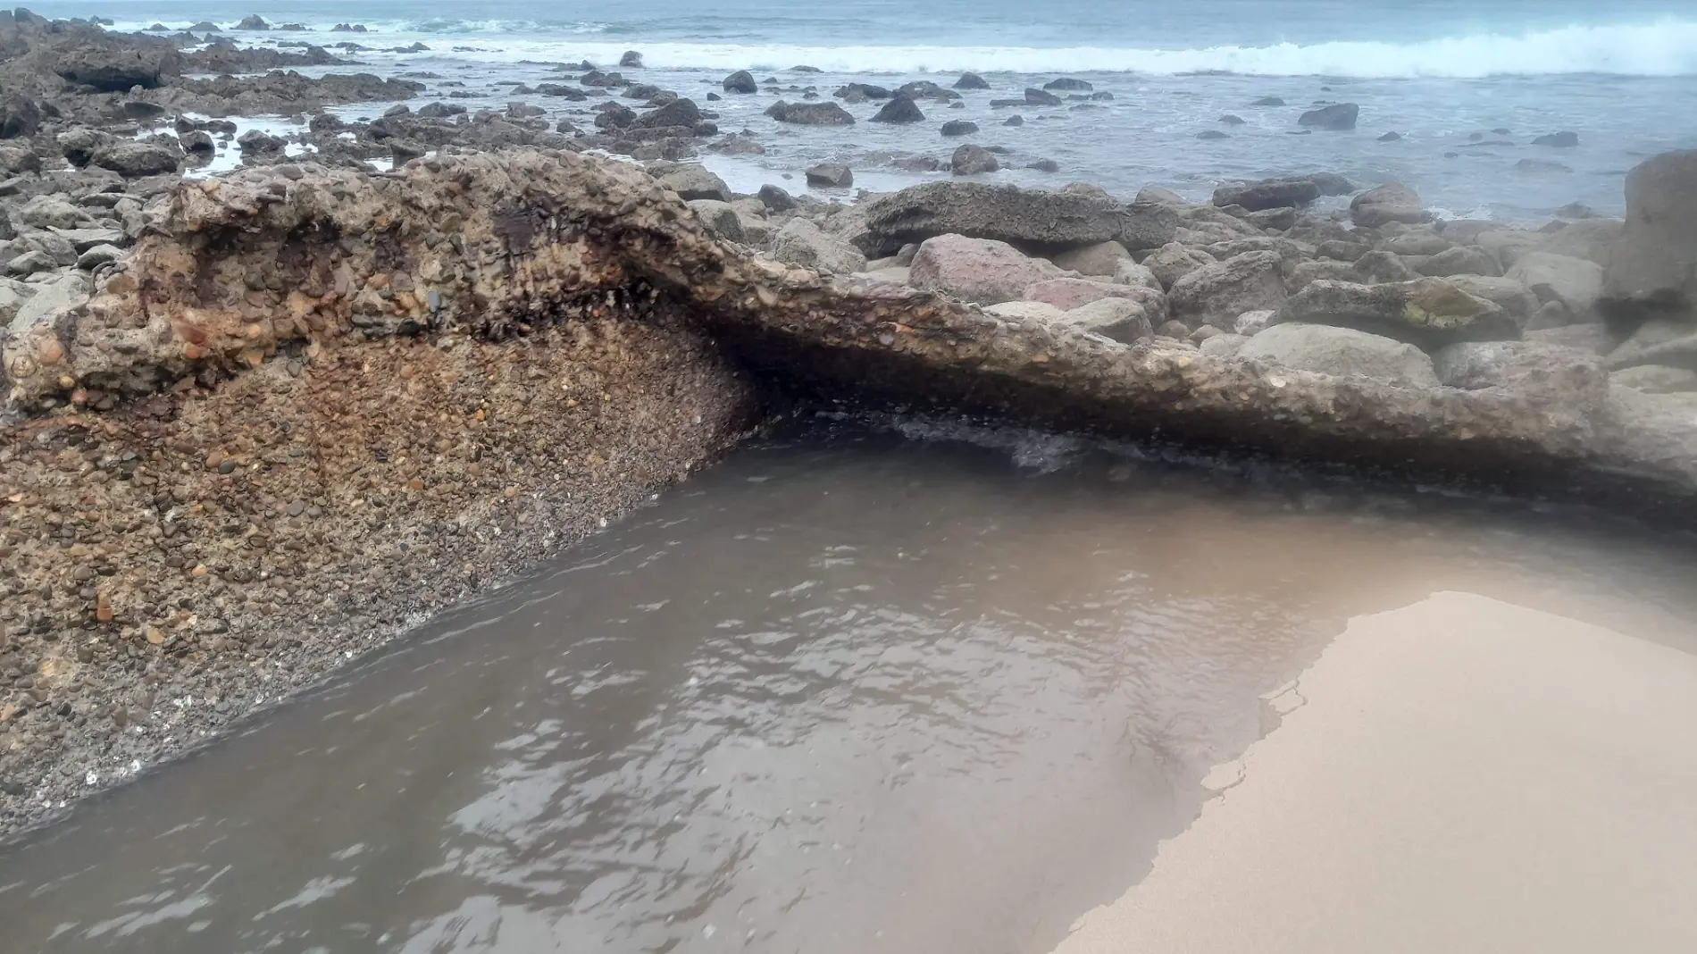
[[[1057,954],[1697,951],[1697,657],[1442,592],[1274,704]]]

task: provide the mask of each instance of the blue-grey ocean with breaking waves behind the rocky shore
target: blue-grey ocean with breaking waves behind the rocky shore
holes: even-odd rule
[[[1697,146],[1697,8],[1690,0],[1196,0],[1188,3],[1050,0],[862,0],[847,7],[774,0],[630,0],[604,3],[448,3],[441,0],[283,2],[76,0],[41,3],[44,15],[102,15],[112,29],[197,20],[232,25],[260,14],[299,32],[236,34],[244,42],[287,41],[431,49],[358,53],[361,70],[426,73],[429,97],[458,93],[468,107],[504,107],[509,85],[558,80],[550,63],[589,59],[616,68],[641,53],[643,83],[677,90],[720,114],[723,131],[748,131],[764,156],[706,156],[736,188],[777,182],[801,192],[799,171],[843,161],[857,185],[899,187],[927,173],[898,160],[947,160],[949,119],[974,121],[966,141],[1003,146],[998,182],[1059,187],[1095,182],[1117,194],[1162,185],[1205,197],[1241,178],[1336,171],[1359,183],[1398,180],[1441,214],[1539,222],[1582,202],[1622,210],[1622,180],[1643,158]],[[331,34],[336,22],[372,32]],[[820,73],[796,71],[811,66]],[[720,80],[752,70],[784,88],[708,104]],[[794,127],[764,115],[779,97],[808,88],[821,98],[845,81],[894,87],[964,71],[989,92],[966,109],[921,104],[927,122],[871,124],[877,104],[850,107],[852,127]],[[1088,80],[1106,102],[1047,109],[993,109],[1027,85]],[[502,85],[506,83],[506,85]],[[1256,107],[1280,97],[1285,107]],[[529,102],[568,112],[580,104]],[[1351,132],[1300,134],[1295,119],[1319,102],[1354,102]],[[375,115],[356,105],[350,117]],[[1023,126],[1003,126],[1020,112]],[[1225,124],[1235,115],[1242,124]],[[1575,148],[1532,146],[1571,131]],[[1225,137],[1198,139],[1201,132]],[[1395,132],[1395,139],[1381,136]],[[1023,168],[1054,160],[1061,171]],[[928,175],[947,175],[928,173]]]

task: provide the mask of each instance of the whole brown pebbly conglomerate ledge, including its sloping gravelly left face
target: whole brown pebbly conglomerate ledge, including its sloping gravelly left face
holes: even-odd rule
[[[1459,390],[1125,345],[776,263],[575,153],[255,168],[180,185],[149,229],[0,341],[0,832],[711,460],[759,414],[745,368],[1115,435],[1697,485],[1685,404],[1595,363]]]

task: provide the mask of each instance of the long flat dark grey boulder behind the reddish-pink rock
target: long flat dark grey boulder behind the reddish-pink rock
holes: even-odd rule
[[[1164,205],[1120,205],[1078,192],[983,182],[927,182],[865,207],[874,256],[942,234],[1066,250],[1118,239],[1130,250],[1171,241],[1178,217]],[[1162,238],[1164,236],[1164,238]]]

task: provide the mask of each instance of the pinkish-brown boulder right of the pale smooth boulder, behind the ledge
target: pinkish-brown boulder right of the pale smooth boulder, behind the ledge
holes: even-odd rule
[[[1510,387],[1527,397],[1600,404],[1609,372],[1597,355],[1543,341],[1459,341],[1432,353],[1446,387]]]

